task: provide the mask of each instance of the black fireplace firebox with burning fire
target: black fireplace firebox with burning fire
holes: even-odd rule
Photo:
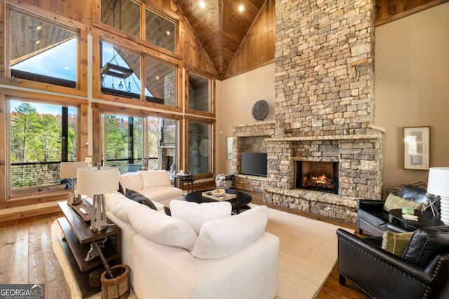
[[[296,188],[338,194],[338,162],[296,162]]]

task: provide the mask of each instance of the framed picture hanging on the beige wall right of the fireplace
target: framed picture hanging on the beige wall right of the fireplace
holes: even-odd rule
[[[428,170],[430,127],[404,128],[404,168]]]

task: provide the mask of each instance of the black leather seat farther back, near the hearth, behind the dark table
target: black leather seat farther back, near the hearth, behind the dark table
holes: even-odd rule
[[[427,202],[427,190],[417,186],[404,185],[398,196],[415,202]],[[357,200],[357,226],[360,234],[382,236],[389,223],[388,211],[384,211],[383,207],[384,200]]]

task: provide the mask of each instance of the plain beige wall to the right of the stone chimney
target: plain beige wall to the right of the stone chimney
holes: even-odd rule
[[[375,124],[387,130],[384,188],[427,181],[427,170],[403,169],[403,127],[430,126],[430,166],[449,166],[449,3],[375,30]]]

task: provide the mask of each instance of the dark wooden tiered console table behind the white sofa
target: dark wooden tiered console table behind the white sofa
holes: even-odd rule
[[[84,201],[84,204],[89,205]],[[102,253],[109,265],[121,264],[121,229],[107,219],[108,227],[103,232],[91,232],[90,223],[86,222],[70,207],[67,202],[58,202],[58,206],[65,217],[58,218],[64,237],[59,237],[60,244],[81,291],[82,298],[86,298],[101,290],[101,286],[89,285],[89,274],[98,267],[102,267],[102,260],[96,257],[86,262],[91,243],[107,237],[102,247]]]

